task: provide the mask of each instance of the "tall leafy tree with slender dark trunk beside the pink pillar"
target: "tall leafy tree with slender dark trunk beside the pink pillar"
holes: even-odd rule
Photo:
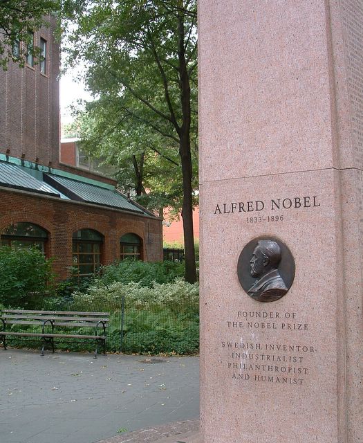
[[[179,187],[186,279],[194,282],[196,0],[68,0],[63,14],[68,65],[86,62],[97,98],[87,108],[89,142],[104,143],[119,165],[129,158],[139,174],[153,171],[142,187],[164,181],[165,195]]]

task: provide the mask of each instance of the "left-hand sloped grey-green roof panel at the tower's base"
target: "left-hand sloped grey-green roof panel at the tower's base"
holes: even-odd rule
[[[32,177],[17,165],[2,161],[0,161],[0,186],[59,197],[59,193],[44,181]]]

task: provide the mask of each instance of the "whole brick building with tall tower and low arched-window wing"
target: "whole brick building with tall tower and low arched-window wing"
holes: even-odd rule
[[[59,278],[124,257],[162,260],[161,219],[112,179],[59,162],[59,46],[54,23],[34,35],[44,60],[0,71],[1,244],[36,244]]]

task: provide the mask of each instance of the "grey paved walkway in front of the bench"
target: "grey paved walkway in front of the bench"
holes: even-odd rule
[[[93,443],[195,420],[198,363],[1,349],[0,442]]]

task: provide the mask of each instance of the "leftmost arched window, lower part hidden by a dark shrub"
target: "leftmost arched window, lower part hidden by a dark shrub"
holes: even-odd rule
[[[48,233],[46,230],[37,224],[26,223],[25,221],[10,224],[1,233],[1,245],[10,246],[10,248],[35,246],[44,252],[47,239]]]

